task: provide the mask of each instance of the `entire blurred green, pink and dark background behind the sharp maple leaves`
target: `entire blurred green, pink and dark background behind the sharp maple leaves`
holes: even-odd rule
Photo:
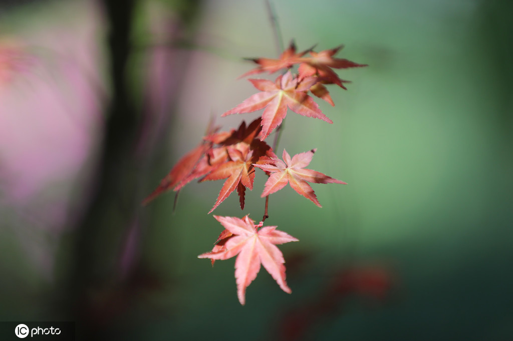
[[[221,181],[142,199],[199,143],[259,113],[243,57],[277,56],[263,1],[7,1],[0,7],[0,320],[76,321],[77,339],[513,339],[513,6],[275,0],[300,50],[340,44],[334,124],[288,115],[278,154],[317,147],[323,208],[285,188],[270,218],[280,290],[241,307]],[[266,75],[265,75],[266,76]],[[259,177],[259,175],[261,175]],[[263,214],[257,175],[241,212]]]

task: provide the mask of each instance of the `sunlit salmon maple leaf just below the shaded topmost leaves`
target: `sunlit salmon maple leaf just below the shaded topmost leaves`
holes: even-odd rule
[[[313,98],[307,95],[307,91],[317,83],[317,77],[305,77],[300,81],[298,77],[292,78],[292,74],[288,71],[285,75],[278,76],[274,82],[267,79],[249,79],[249,81],[262,92],[252,95],[221,116],[250,113],[265,107],[260,133],[262,141],[283,121],[287,115],[287,106],[294,113],[333,123],[321,112]]]

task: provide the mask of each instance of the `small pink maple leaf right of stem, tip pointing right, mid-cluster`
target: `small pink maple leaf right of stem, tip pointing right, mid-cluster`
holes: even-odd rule
[[[285,160],[285,162],[274,158],[272,160],[274,164],[254,164],[255,167],[272,173],[265,183],[262,198],[275,193],[285,187],[287,183],[290,183],[290,187],[295,191],[311,200],[315,205],[322,207],[312,187],[306,183],[307,181],[312,183],[341,183],[347,185],[344,181],[333,179],[320,172],[312,171],[312,169],[304,168],[310,164],[313,153],[315,153],[316,150],[317,149],[312,149],[309,152],[294,155],[292,159],[287,151],[283,150],[283,160]]]

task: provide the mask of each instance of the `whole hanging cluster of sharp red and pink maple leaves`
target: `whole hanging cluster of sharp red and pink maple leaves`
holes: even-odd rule
[[[199,182],[226,179],[214,206],[208,213],[217,208],[235,190],[239,194],[241,209],[244,209],[246,188],[253,189],[255,167],[264,171],[269,178],[262,193],[262,198],[266,197],[266,210],[262,221],[254,224],[248,216],[242,219],[214,216],[225,229],[216,240],[212,251],[198,256],[210,258],[213,265],[215,260],[225,260],[238,255],[235,261],[235,279],[239,302],[242,305],[245,304],[246,288],[256,278],[261,264],[285,292],[291,292],[285,281],[283,254],[275,245],[298,240],[277,230],[277,226],[263,226],[267,218],[268,196],[288,183],[298,194],[322,207],[307,182],[345,184],[343,181],[305,168],[311,162],[315,149],[293,157],[283,150],[282,161],[265,142],[269,134],[282,123],[287,115],[287,108],[303,116],[333,123],[321,112],[319,105],[308,93],[334,106],[326,85],[336,84],[346,89],[343,83],[347,81],[340,79],[333,69],[366,66],[333,57],[341,48],[342,46],[321,52],[314,52],[313,49],[296,52],[295,45],[291,42],[278,59],[250,59],[257,64],[257,68],[242,77],[263,72],[272,74],[281,70],[284,73],[274,81],[249,79],[260,92],[248,97],[221,116],[250,113],[265,108],[262,116],[248,125],[243,121],[239,129],[232,129],[229,132],[219,132],[219,128],[209,127],[201,143],[183,156],[153,193],[144,200],[146,204],[170,189],[178,192],[194,179],[201,178]],[[307,53],[309,55],[305,56]],[[298,73],[292,74],[291,69],[295,65],[299,65]]]

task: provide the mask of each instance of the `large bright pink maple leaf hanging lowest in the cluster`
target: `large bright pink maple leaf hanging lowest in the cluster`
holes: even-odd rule
[[[200,254],[198,258],[226,260],[238,255],[235,260],[235,281],[241,305],[246,303],[246,288],[257,278],[261,265],[271,274],[283,291],[292,292],[285,281],[283,254],[275,245],[297,242],[298,239],[277,230],[277,226],[262,227],[262,222],[254,225],[254,221],[248,216],[242,219],[220,216],[214,216],[214,218],[233,236],[229,237],[222,248],[216,249],[214,246],[211,252]],[[259,227],[261,228],[258,229]]]

